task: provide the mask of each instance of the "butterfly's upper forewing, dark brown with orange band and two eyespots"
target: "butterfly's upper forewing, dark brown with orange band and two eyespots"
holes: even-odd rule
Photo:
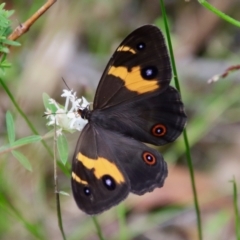
[[[146,25],[119,45],[99,82],[93,108],[106,108],[164,91],[171,66],[161,31]]]

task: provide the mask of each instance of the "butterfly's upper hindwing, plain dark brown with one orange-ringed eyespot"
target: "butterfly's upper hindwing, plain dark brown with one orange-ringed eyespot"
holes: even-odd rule
[[[187,117],[179,93],[169,86],[146,99],[94,110],[91,121],[138,141],[163,145],[182,133]]]

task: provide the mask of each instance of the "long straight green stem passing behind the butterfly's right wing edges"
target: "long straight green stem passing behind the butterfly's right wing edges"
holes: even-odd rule
[[[175,64],[175,60],[174,60],[172,42],[171,42],[171,37],[170,37],[170,32],[169,32],[169,27],[168,27],[167,14],[166,14],[166,10],[165,10],[165,6],[164,6],[163,1],[164,0],[160,0],[160,6],[161,6],[161,9],[162,9],[164,25],[165,25],[165,29],[166,29],[166,35],[167,35],[167,42],[168,42],[171,61],[172,61],[174,81],[175,81],[176,88],[178,89],[179,92],[181,92],[180,84],[179,84],[179,81],[178,81],[177,68],[176,68],[176,64]],[[184,138],[185,147],[186,147],[186,157],[187,157],[187,163],[188,163],[188,168],[189,168],[189,173],[190,173],[190,178],[191,178],[191,185],[192,185],[192,191],[193,191],[193,196],[194,196],[194,205],[195,205],[195,210],[196,210],[196,215],[197,215],[198,238],[199,238],[199,240],[202,240],[203,237],[202,237],[201,213],[200,213],[200,208],[199,208],[199,204],[198,204],[194,170],[193,170],[192,158],[191,158],[189,141],[188,141],[188,136],[187,136],[186,129],[184,129],[184,131],[183,131],[183,138]]]

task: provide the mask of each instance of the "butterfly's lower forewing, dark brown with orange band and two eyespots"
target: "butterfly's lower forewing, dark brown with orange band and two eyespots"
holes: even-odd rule
[[[96,128],[87,124],[72,162],[73,196],[84,212],[100,213],[128,195],[128,178],[114,160],[111,147],[106,146]]]

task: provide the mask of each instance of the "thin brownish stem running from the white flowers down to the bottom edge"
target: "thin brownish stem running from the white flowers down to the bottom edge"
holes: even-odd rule
[[[57,205],[57,216],[58,216],[58,226],[62,233],[62,237],[66,240],[66,236],[62,224],[62,214],[61,214],[61,205],[60,205],[60,194],[58,190],[58,176],[57,176],[57,129],[56,129],[56,120],[54,124],[54,138],[53,138],[53,165],[54,165],[54,187],[56,194],[56,205]]]

